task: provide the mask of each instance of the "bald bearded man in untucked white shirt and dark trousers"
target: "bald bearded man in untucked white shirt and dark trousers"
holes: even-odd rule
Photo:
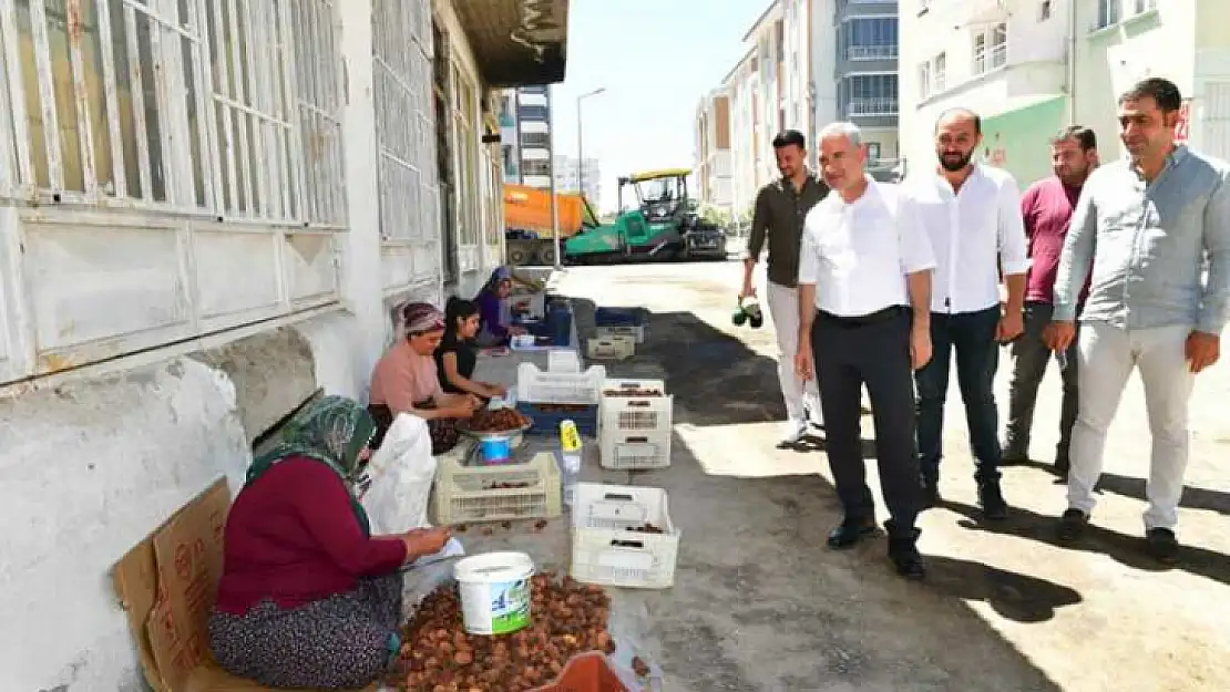
[[[943,113],[936,124],[937,170],[909,176],[905,187],[918,204],[936,259],[931,294],[935,356],[915,375],[925,500],[927,506],[940,503],[943,403],[956,352],[978,503],[984,516],[998,520],[1007,516],[1007,503],[1000,490],[1002,450],[993,387],[1000,344],[1025,329],[1030,261],[1016,181],[1002,170],[972,162],[982,139],[977,114],[963,108]],[[1007,286],[1002,306],[1001,275]]]

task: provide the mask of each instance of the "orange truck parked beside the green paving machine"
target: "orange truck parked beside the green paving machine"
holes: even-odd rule
[[[560,238],[582,227],[597,227],[598,218],[579,193],[556,193]],[[551,193],[545,189],[504,186],[504,240],[507,259],[513,265],[555,264],[555,232],[551,225]]]

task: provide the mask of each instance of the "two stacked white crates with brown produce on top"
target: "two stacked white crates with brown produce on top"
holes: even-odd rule
[[[606,380],[598,412],[603,468],[670,466],[674,403],[662,380]]]

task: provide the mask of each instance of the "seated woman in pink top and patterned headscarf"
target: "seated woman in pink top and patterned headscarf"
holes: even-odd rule
[[[482,402],[440,387],[432,354],[444,339],[444,315],[433,305],[413,302],[402,310],[402,320],[406,338],[384,354],[371,375],[368,412],[376,422],[371,446],[380,446],[399,413],[412,413],[427,420],[432,454],[444,454],[458,444],[458,420],[470,418]]]

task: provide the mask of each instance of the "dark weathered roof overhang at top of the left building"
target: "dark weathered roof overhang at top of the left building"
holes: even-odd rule
[[[453,0],[453,7],[487,86],[563,81],[568,0]]]

